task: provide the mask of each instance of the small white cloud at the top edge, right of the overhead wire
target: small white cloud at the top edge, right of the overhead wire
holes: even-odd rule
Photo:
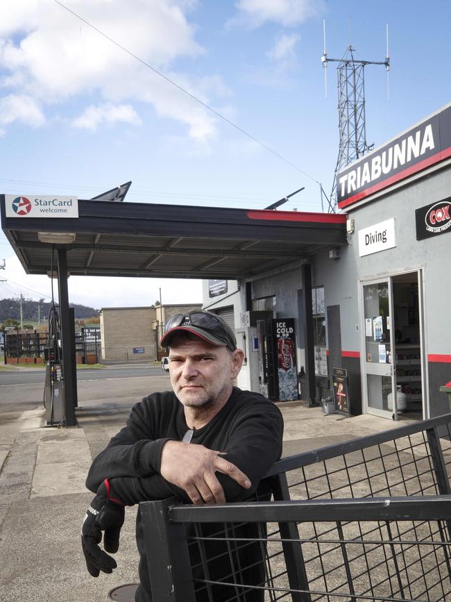
[[[321,12],[323,0],[239,0],[235,22],[259,27],[266,22],[284,27],[299,25]]]

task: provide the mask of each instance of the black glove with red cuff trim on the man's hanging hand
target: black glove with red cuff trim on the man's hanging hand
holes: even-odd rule
[[[98,577],[100,571],[112,573],[112,569],[117,567],[114,558],[101,550],[99,544],[103,531],[105,550],[117,552],[123,524],[124,504],[111,496],[110,483],[105,478],[86,511],[81,529],[81,546],[85,554],[87,571],[93,577]]]

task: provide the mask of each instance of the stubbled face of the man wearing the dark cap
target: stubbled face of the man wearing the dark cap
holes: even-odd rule
[[[169,376],[179,401],[192,408],[227,401],[241,367],[240,353],[201,339],[175,339],[169,349]]]

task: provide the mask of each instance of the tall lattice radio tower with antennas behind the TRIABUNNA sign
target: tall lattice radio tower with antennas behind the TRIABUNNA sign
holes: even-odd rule
[[[339,153],[334,171],[334,182],[329,199],[329,212],[337,212],[337,174],[350,162],[370,151],[374,144],[366,142],[365,122],[365,66],[385,65],[387,74],[387,97],[389,95],[389,26],[386,26],[385,60],[356,60],[355,49],[349,44],[343,58],[329,58],[325,49],[325,22],[323,22],[324,52],[321,62],[324,67],[325,93],[327,97],[327,63],[338,62],[337,87],[339,110]]]

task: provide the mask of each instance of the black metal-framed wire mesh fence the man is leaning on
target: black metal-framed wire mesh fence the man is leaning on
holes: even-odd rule
[[[284,458],[255,501],[142,503],[154,599],[451,599],[450,431],[446,415]]]

